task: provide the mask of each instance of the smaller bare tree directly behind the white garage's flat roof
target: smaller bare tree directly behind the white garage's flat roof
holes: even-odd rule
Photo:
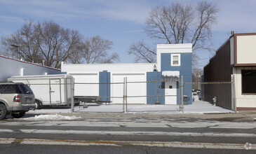
[[[113,63],[119,60],[119,55],[116,52],[112,55],[108,54],[108,50],[111,50],[113,45],[112,41],[100,38],[100,36],[86,38],[80,44],[79,52],[75,52],[70,60],[79,64]]]

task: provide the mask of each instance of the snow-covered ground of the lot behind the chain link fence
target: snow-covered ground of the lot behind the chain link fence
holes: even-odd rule
[[[234,111],[223,109],[220,106],[213,106],[208,102],[195,101],[193,104],[184,105],[184,110],[179,105],[154,105],[154,104],[128,104],[124,109],[123,104],[101,104],[100,106],[75,106],[75,113],[159,113],[159,114],[180,114],[180,113],[234,113]],[[48,109],[29,111],[35,113],[71,113],[69,106],[52,106]]]

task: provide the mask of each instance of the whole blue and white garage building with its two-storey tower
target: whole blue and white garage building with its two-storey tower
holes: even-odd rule
[[[95,96],[111,101],[113,104],[122,104],[123,82],[127,77],[129,104],[154,104],[156,101],[160,104],[177,104],[180,76],[184,76],[191,82],[191,52],[191,44],[162,44],[157,45],[157,63],[69,64],[62,62],[61,71],[74,77],[74,96]],[[166,79],[168,82],[162,82]],[[160,85],[163,86],[160,87]],[[156,95],[161,97],[149,97]],[[169,96],[164,97],[164,95]],[[191,98],[191,87],[188,87],[186,95]],[[191,104],[191,99],[187,104]]]

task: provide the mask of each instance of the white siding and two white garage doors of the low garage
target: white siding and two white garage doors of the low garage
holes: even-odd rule
[[[123,97],[123,78],[127,77],[128,95],[147,96],[147,71],[153,71],[154,64],[67,64],[62,63],[62,72],[66,71],[75,78],[75,96],[100,96],[99,83],[109,83],[100,79],[100,72],[110,73],[110,96]],[[88,84],[86,84],[88,83]],[[93,84],[95,83],[95,84]],[[140,88],[138,88],[140,87]],[[136,101],[135,101],[136,99]],[[112,98],[112,102],[121,103],[122,98]],[[128,102],[146,104],[147,97],[128,98]]]

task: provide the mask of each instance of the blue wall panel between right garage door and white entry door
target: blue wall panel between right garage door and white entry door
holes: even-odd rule
[[[162,72],[153,71],[147,72],[147,104],[155,104],[158,100],[160,104],[165,104],[165,90],[164,84],[161,83]],[[150,82],[150,81],[160,81],[160,82]],[[159,88],[163,84],[163,88]],[[150,97],[150,96],[163,96],[163,97]]]

